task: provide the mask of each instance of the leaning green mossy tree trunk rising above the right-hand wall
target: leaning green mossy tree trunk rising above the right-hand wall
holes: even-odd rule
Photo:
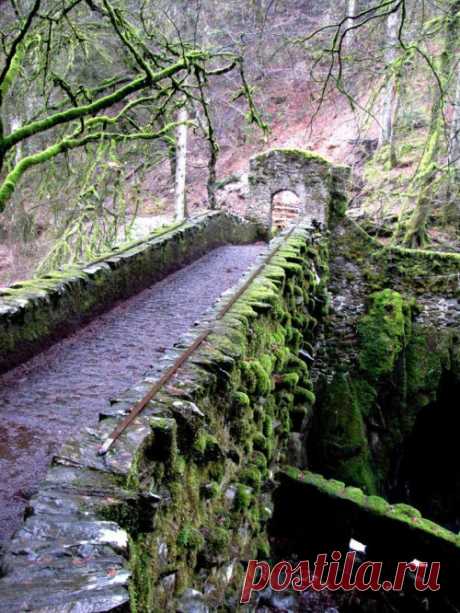
[[[418,197],[404,236],[407,247],[423,247],[427,242],[426,226],[433,201],[433,184],[438,173],[438,157],[444,132],[444,110],[447,91],[451,80],[452,66],[458,57],[460,35],[460,0],[450,0],[446,16],[444,50],[435,65],[439,80],[434,96],[431,124],[419,170],[413,186]]]

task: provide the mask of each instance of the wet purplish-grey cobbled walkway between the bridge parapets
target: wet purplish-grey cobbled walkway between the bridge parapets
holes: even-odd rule
[[[62,443],[94,426],[266,249],[215,249],[0,377],[0,547]]]

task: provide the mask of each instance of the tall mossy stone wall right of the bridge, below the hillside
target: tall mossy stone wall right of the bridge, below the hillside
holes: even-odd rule
[[[386,248],[345,220],[331,267],[343,314],[329,322],[318,377],[313,465],[389,495],[420,411],[436,403],[443,376],[460,379],[460,259]]]

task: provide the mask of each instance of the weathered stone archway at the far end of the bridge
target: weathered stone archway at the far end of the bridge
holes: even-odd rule
[[[333,166],[311,151],[271,149],[251,159],[247,217],[271,234],[273,200],[281,192],[293,192],[299,216],[326,224],[336,194],[345,193],[348,167]]]

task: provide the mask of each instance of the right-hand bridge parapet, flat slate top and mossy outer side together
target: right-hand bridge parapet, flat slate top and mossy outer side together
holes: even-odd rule
[[[301,349],[328,308],[324,233],[300,226],[278,246],[223,318],[235,289],[165,355],[168,365],[212,326],[106,456],[101,441],[151,381],[63,446],[3,558],[9,610],[236,608],[241,560],[269,553],[273,475],[312,415]]]

